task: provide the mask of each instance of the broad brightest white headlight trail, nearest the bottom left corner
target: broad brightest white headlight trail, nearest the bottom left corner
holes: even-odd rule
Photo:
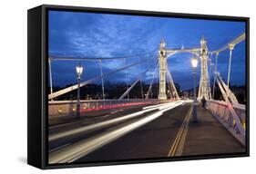
[[[172,105],[167,104],[168,107],[163,108],[162,110],[156,111],[149,114],[147,117],[144,117],[138,121],[132,122],[128,125],[125,125],[121,128],[118,128],[113,131],[106,131],[101,134],[98,134],[94,137],[91,137],[87,140],[81,140],[73,145],[70,145],[64,149],[56,150],[52,153],[49,153],[49,163],[67,163],[77,160],[88,153],[97,150],[98,148],[108,144],[113,140],[117,140],[119,137],[127,134],[130,131],[138,129],[148,123],[159,118],[165,111],[169,111],[183,102],[178,102]],[[153,110],[153,109],[150,109]]]

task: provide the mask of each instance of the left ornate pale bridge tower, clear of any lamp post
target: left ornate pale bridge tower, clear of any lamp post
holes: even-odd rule
[[[159,100],[166,100],[166,61],[167,52],[165,41],[162,39],[159,44]]]

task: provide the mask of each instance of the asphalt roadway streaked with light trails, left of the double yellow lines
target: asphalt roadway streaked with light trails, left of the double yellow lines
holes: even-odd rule
[[[109,111],[49,128],[49,162],[167,157],[189,112],[187,102]]]

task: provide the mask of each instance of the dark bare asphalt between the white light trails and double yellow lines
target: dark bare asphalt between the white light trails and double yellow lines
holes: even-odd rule
[[[190,104],[166,111],[158,119],[132,131],[76,162],[139,160],[168,157]]]

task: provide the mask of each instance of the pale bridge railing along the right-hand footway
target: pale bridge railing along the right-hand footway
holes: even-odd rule
[[[236,121],[234,113],[230,111],[230,106],[224,101],[209,101],[208,108],[210,112],[215,116],[216,119],[225,126],[237,140],[241,141],[245,145],[245,134],[240,132],[238,127],[241,126],[246,129],[246,111],[245,105],[242,104],[232,104],[232,108],[235,114],[239,117],[239,121]]]

